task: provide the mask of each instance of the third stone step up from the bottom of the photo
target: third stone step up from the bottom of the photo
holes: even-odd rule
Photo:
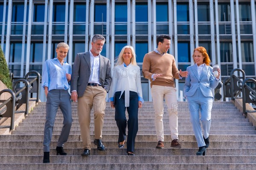
[[[72,156],[80,156],[82,153],[81,148],[66,148],[65,152]],[[195,156],[195,153],[198,151],[198,148],[136,148],[135,153],[136,156]],[[2,156],[41,156],[41,153],[44,153],[43,148],[1,148],[1,155]],[[54,156],[56,154],[55,148],[50,149],[50,155]],[[92,148],[90,150],[91,155],[100,155],[100,156],[122,156],[127,155],[126,147],[120,149],[117,148],[106,148],[105,151],[99,151],[96,148]],[[256,148],[208,148],[207,149],[207,156],[256,156]]]

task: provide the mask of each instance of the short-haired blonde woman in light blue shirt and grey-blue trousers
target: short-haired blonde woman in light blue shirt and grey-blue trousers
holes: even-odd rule
[[[59,43],[56,48],[57,58],[47,59],[42,71],[42,87],[47,97],[43,163],[50,163],[50,142],[58,107],[61,109],[64,121],[61,135],[57,142],[56,154],[67,155],[64,152],[63,145],[67,142],[72,124],[71,101],[68,92],[71,80],[71,66],[64,61],[68,50],[69,46],[66,43]]]

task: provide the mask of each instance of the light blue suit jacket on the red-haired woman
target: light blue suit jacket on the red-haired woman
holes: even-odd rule
[[[187,68],[189,75],[186,77],[184,85],[184,96],[193,96],[199,87],[204,96],[213,97],[212,88],[217,87],[219,80],[215,79],[212,70],[211,66],[204,65],[201,76],[198,79],[197,64],[189,66]]]

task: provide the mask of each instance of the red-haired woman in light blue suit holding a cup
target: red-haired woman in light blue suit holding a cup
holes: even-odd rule
[[[211,61],[204,47],[195,48],[192,57],[195,65],[187,68],[189,75],[185,80],[184,96],[189,104],[190,121],[199,147],[196,155],[205,155],[206,148],[209,147],[212,89],[216,88],[219,83],[221,70],[218,68],[218,76],[214,77],[213,68],[209,66]],[[201,119],[199,119],[199,111],[201,111]],[[204,135],[200,120],[203,124]]]

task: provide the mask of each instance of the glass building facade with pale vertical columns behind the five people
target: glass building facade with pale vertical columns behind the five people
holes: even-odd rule
[[[142,67],[144,55],[157,48],[157,35],[169,34],[178,69],[192,65],[193,49],[204,46],[211,64],[221,66],[222,81],[233,68],[256,78],[255,0],[0,0],[0,31],[17,77],[31,70],[41,74],[59,42],[70,45],[66,60],[73,65],[76,53],[90,49],[93,34],[105,36],[101,54],[112,68],[125,45],[134,47]],[[141,79],[143,98],[151,101],[149,82]],[[184,81],[175,80],[180,101]]]

